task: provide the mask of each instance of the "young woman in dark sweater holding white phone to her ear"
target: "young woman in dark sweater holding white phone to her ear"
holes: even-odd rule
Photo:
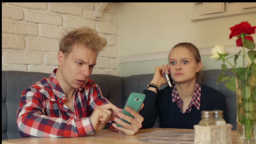
[[[226,101],[224,95],[209,86],[200,84],[202,62],[199,50],[194,44],[179,43],[169,53],[169,64],[155,68],[154,77],[146,95],[144,108],[140,114],[144,117],[142,128],[152,128],[159,116],[160,128],[193,129],[201,120],[202,110],[223,110]],[[173,81],[168,84],[164,73],[170,73]]]

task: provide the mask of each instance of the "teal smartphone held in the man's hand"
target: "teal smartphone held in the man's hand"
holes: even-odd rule
[[[133,115],[131,115],[130,113],[128,113],[125,108],[126,107],[130,107],[133,110],[135,110],[136,112],[139,112],[139,109],[143,103],[143,101],[145,100],[146,95],[145,94],[141,94],[141,93],[137,93],[137,92],[132,92],[128,98],[128,100],[126,101],[126,104],[123,107],[123,114],[126,114],[127,116],[130,116],[132,118],[134,118]],[[121,118],[120,118],[121,119]],[[121,119],[123,122],[126,122],[128,124],[130,124],[129,122],[127,122],[124,119]],[[123,127],[122,125],[117,124],[118,127]]]

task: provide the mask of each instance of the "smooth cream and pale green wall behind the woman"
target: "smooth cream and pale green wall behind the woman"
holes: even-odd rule
[[[166,64],[168,58],[166,55],[155,61],[122,63],[124,56],[129,58],[142,54],[169,52],[180,42],[190,42],[200,51],[213,48],[216,44],[236,47],[236,38],[229,40],[229,28],[242,21],[248,21],[251,26],[256,26],[256,13],[191,21],[192,3],[118,3],[117,11],[120,76],[154,73],[155,66]],[[256,34],[251,36],[255,42]],[[221,61],[213,62],[210,55],[204,55],[203,59],[207,69],[221,68]]]

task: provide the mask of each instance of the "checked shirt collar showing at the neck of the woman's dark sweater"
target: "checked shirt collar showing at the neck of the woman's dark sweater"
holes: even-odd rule
[[[187,110],[186,110],[185,113],[189,113],[192,109],[192,106],[195,106],[198,110],[200,110],[200,98],[201,98],[201,85],[198,82],[196,82],[195,91],[194,91],[192,100],[191,100],[190,104],[188,105]],[[179,97],[177,88],[174,85],[173,89],[172,89],[172,103],[175,103],[176,101],[177,101],[176,104],[180,108],[180,111],[182,113],[183,112],[182,111],[183,101]]]

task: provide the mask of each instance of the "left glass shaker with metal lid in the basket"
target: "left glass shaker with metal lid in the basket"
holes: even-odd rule
[[[199,122],[199,125],[202,125],[202,126],[216,125],[213,111],[203,110],[201,113],[202,113],[202,119]]]

